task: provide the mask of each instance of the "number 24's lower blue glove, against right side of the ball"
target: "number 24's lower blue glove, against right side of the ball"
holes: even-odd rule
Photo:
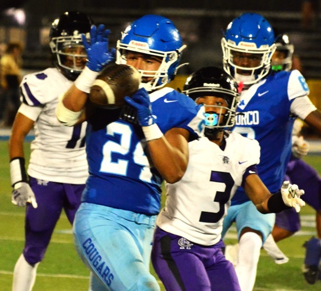
[[[141,126],[149,126],[154,123],[151,115],[150,100],[148,92],[141,88],[132,97],[125,97],[125,101],[136,108],[138,122]]]

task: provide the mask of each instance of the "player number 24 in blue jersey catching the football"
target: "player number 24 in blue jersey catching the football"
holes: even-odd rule
[[[117,42],[116,63],[135,67],[141,89],[123,108],[83,114],[90,87],[106,63],[109,31],[91,31],[86,68],[57,109],[58,119],[88,122],[89,178],[76,213],[74,240],[94,272],[94,290],[159,290],[149,272],[150,251],[163,180],[180,180],[189,159],[188,141],[204,127],[204,107],[171,88],[183,45],[173,22],[145,15]],[[136,111],[133,117],[132,112]]]

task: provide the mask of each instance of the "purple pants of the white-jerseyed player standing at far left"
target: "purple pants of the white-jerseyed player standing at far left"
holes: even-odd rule
[[[38,207],[26,208],[24,256],[35,264],[44,258],[51,235],[62,209],[72,224],[80,205],[84,184],[48,182],[30,177]]]

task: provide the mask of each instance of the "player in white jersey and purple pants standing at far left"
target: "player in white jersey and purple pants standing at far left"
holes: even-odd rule
[[[9,141],[12,202],[27,206],[25,247],[13,279],[13,291],[33,288],[62,209],[73,223],[88,176],[85,152],[86,123],[65,127],[56,118],[58,98],[87,62],[81,34],[89,37],[91,20],[80,12],[66,12],[50,31],[55,68],[26,75],[20,85],[22,104]],[[28,175],[24,139],[34,128]]]

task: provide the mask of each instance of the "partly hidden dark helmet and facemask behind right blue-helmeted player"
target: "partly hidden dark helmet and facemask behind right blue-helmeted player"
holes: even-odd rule
[[[281,52],[284,54],[284,59],[274,61],[272,58],[271,68],[274,72],[290,71],[292,68],[292,56],[294,52],[294,46],[290,43],[289,37],[286,34],[280,34],[275,39],[275,53]],[[274,54],[275,54],[274,53]]]

